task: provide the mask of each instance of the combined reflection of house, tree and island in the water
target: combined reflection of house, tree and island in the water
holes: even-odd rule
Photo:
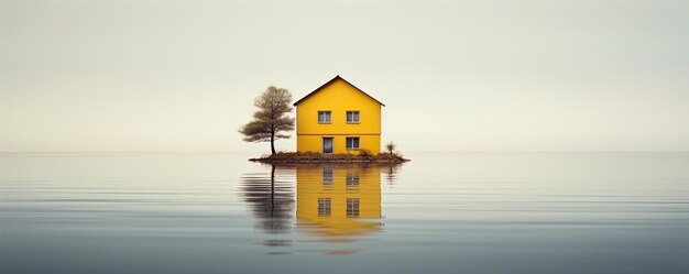
[[[321,248],[328,254],[357,252],[357,246],[341,243],[356,244],[383,231],[381,177],[392,184],[396,167],[280,164],[266,168],[270,174],[244,175],[240,188],[259,230],[269,234],[294,232],[297,242],[325,244]],[[269,239],[262,244],[292,243]]]

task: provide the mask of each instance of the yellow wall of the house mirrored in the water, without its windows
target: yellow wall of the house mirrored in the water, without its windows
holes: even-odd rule
[[[332,169],[332,184],[324,184],[324,169]],[[358,185],[347,185],[347,176]],[[321,235],[353,235],[381,230],[381,172],[378,166],[298,166],[297,224]],[[330,215],[318,212],[318,199],[330,199]],[[359,216],[348,216],[347,198],[359,199]]]

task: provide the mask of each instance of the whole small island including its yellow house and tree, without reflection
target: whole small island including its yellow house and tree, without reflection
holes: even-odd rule
[[[254,101],[253,120],[239,132],[247,142],[270,142],[271,154],[262,163],[373,163],[408,162],[392,141],[381,152],[381,110],[384,103],[339,75],[292,106],[292,94],[269,87]],[[288,117],[296,107],[295,118]],[[296,123],[296,127],[295,127]],[[275,150],[275,140],[289,138],[296,128],[296,152]],[[380,153],[379,153],[380,152]]]

